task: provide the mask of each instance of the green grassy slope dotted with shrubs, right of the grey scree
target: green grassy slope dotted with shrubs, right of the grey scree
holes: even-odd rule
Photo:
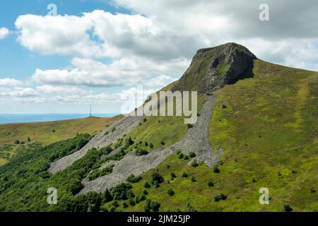
[[[205,165],[191,167],[177,155],[169,157],[157,168],[165,182],[147,189],[147,198],[158,201],[161,211],[188,210],[188,203],[199,211],[281,211],[284,203],[297,211],[318,210],[318,192],[310,192],[311,187],[318,189],[318,73],[260,60],[254,62],[254,73],[254,78],[215,93],[210,142],[216,150],[225,148],[220,173]],[[171,172],[177,178],[168,184]],[[182,178],[182,172],[189,176]],[[150,177],[146,172],[133,184],[136,195]],[[208,186],[210,180],[215,186]],[[261,187],[269,188],[269,205],[259,204]],[[213,201],[220,192],[227,200]],[[143,211],[144,206],[142,201],[119,210]]]

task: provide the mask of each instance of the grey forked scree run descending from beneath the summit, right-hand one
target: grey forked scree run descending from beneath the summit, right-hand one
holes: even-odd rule
[[[200,117],[196,120],[194,126],[187,131],[181,141],[170,146],[170,148],[153,150],[148,155],[136,156],[134,152],[128,153],[122,160],[111,163],[114,165],[112,173],[98,177],[92,181],[84,179],[82,182],[84,187],[80,194],[86,194],[90,191],[103,192],[105,189],[110,189],[117,184],[126,182],[126,178],[130,174],[138,176],[143,174],[143,172],[154,169],[177,150],[182,150],[184,153],[194,151],[196,153],[194,159],[198,162],[204,162],[208,167],[212,167],[213,164],[218,162],[218,157],[223,152],[223,150],[220,150],[218,153],[214,153],[211,145],[208,143],[208,126],[215,102],[215,97],[207,97],[201,109]]]

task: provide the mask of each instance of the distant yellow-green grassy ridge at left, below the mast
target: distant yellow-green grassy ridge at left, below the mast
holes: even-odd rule
[[[26,144],[40,142],[42,145],[47,145],[72,138],[76,136],[76,133],[98,133],[100,130],[105,129],[105,126],[113,124],[121,118],[121,116],[112,118],[88,117],[64,121],[1,124],[0,154],[13,155],[18,147],[18,145],[13,144],[16,140],[25,141]],[[28,142],[28,137],[30,137],[30,142]],[[11,145],[10,150],[4,148],[5,144]],[[4,165],[6,162],[8,160],[0,156],[0,165]]]

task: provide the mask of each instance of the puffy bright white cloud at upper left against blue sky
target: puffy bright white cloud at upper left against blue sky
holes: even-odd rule
[[[23,15],[16,20],[18,42],[40,54],[102,56],[102,47],[91,40],[92,21],[86,16]]]

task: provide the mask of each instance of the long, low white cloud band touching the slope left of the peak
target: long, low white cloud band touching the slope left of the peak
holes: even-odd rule
[[[51,85],[111,87],[140,84],[160,88],[176,79],[162,73],[179,73],[187,64],[187,60],[180,59],[155,64],[147,59],[122,58],[112,64],[102,64],[92,59],[74,58],[73,69],[36,69],[31,80]]]

